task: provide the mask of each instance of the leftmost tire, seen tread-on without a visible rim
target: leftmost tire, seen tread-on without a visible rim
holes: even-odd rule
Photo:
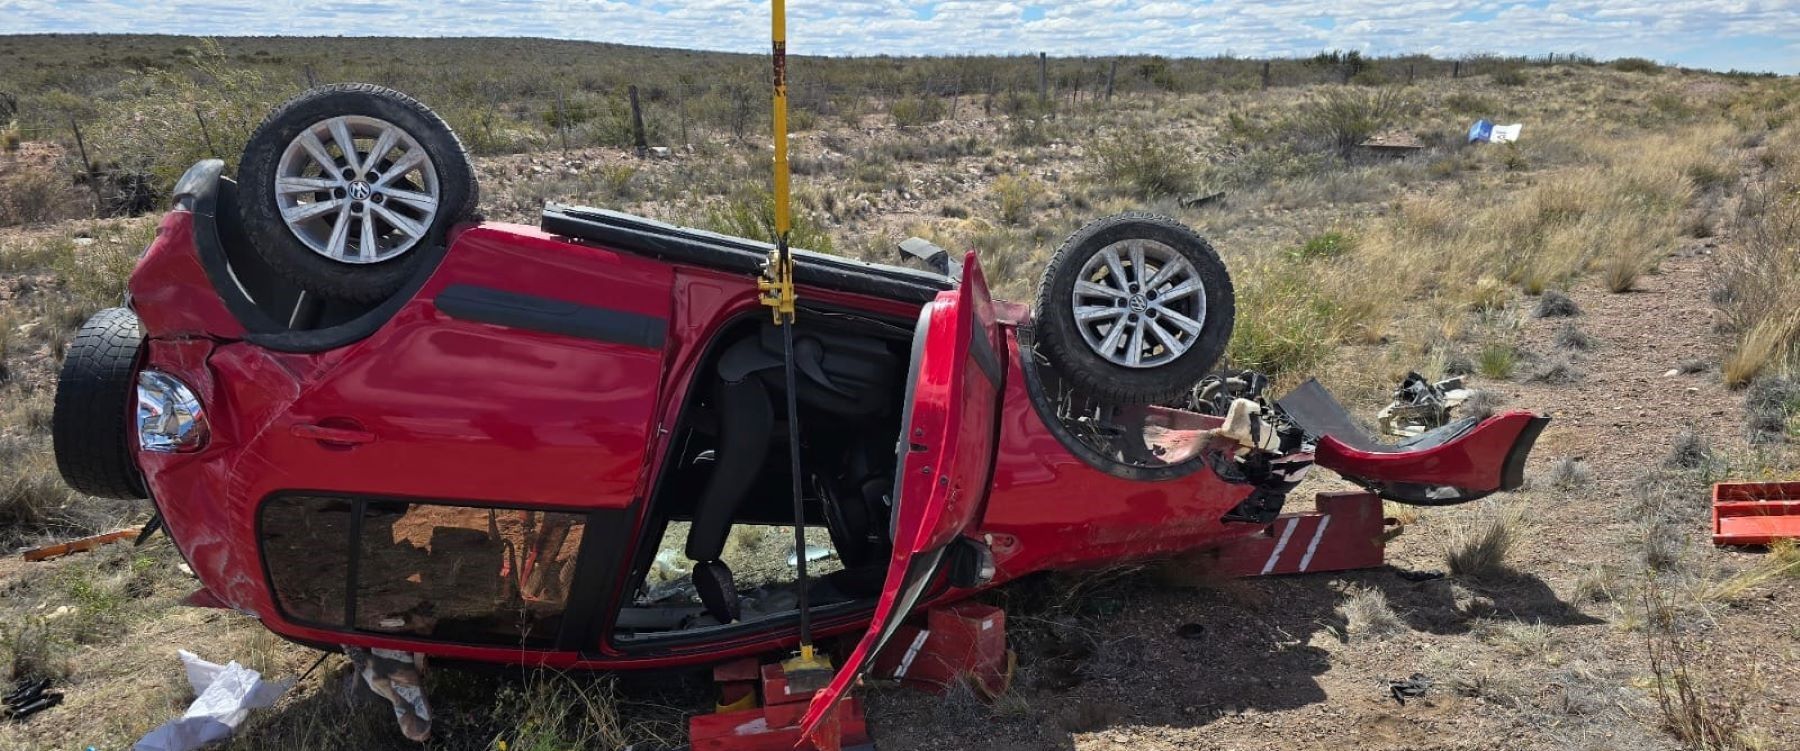
[[[63,357],[50,412],[56,468],[70,488],[106,499],[142,499],[144,475],[133,461],[133,402],[144,331],[137,313],[94,313]]]

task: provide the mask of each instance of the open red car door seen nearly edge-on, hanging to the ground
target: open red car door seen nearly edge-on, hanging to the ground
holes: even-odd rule
[[[814,695],[803,722],[808,737],[835,726],[837,702],[938,580],[950,542],[981,517],[1004,378],[999,351],[994,301],[970,252],[961,285],[938,294],[920,313],[896,447],[895,546],[887,578],[869,630],[832,684]]]

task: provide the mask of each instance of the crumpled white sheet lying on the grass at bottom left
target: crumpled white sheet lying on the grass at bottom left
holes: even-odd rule
[[[191,751],[229,738],[250,710],[275,704],[293,681],[263,681],[263,674],[230,661],[214,665],[178,650],[194,702],[182,717],[144,735],[131,751]]]

